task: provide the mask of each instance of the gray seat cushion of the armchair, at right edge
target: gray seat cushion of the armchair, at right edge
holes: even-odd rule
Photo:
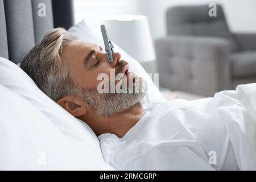
[[[230,60],[233,78],[256,76],[256,51],[233,53]]]

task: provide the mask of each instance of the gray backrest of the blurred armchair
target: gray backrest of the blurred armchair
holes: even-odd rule
[[[237,49],[222,7],[216,6],[217,16],[209,16],[209,10],[208,5],[171,7],[166,13],[167,34],[216,36],[230,40],[232,49]]]

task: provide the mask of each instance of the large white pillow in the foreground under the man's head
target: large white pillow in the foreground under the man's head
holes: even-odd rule
[[[88,125],[2,57],[0,93],[0,170],[113,169]]]

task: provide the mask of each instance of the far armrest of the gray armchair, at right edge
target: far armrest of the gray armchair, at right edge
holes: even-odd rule
[[[256,34],[233,33],[241,51],[256,51]]]

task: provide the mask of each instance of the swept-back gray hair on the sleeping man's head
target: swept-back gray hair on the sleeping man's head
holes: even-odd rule
[[[76,39],[64,28],[53,28],[27,53],[20,64],[20,68],[53,101],[75,94],[76,86],[68,77],[60,52],[65,44]]]

